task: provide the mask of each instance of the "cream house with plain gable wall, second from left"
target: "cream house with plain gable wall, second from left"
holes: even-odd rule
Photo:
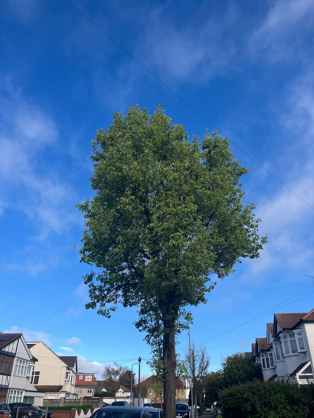
[[[32,383],[45,393],[44,399],[76,399],[76,356],[57,356],[43,342],[28,342],[28,349],[38,359]]]

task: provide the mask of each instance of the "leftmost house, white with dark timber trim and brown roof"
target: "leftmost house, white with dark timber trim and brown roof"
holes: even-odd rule
[[[31,382],[36,362],[23,334],[0,333],[0,402],[41,405],[44,393]]]

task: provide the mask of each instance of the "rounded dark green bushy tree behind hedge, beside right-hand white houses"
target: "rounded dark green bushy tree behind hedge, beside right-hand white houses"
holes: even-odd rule
[[[222,362],[224,386],[239,385],[253,379],[263,380],[263,373],[255,357],[247,357],[244,353],[236,353],[226,357]]]

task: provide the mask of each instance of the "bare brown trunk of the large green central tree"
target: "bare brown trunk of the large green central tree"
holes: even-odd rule
[[[164,373],[164,408],[165,418],[175,418],[175,333],[174,324],[165,326],[169,332],[164,335],[162,357],[165,367]]]

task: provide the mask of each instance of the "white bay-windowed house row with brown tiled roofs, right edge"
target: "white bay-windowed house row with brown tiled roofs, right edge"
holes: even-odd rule
[[[264,380],[295,384],[313,382],[314,309],[310,312],[274,314],[266,337],[257,338],[256,354]]]

